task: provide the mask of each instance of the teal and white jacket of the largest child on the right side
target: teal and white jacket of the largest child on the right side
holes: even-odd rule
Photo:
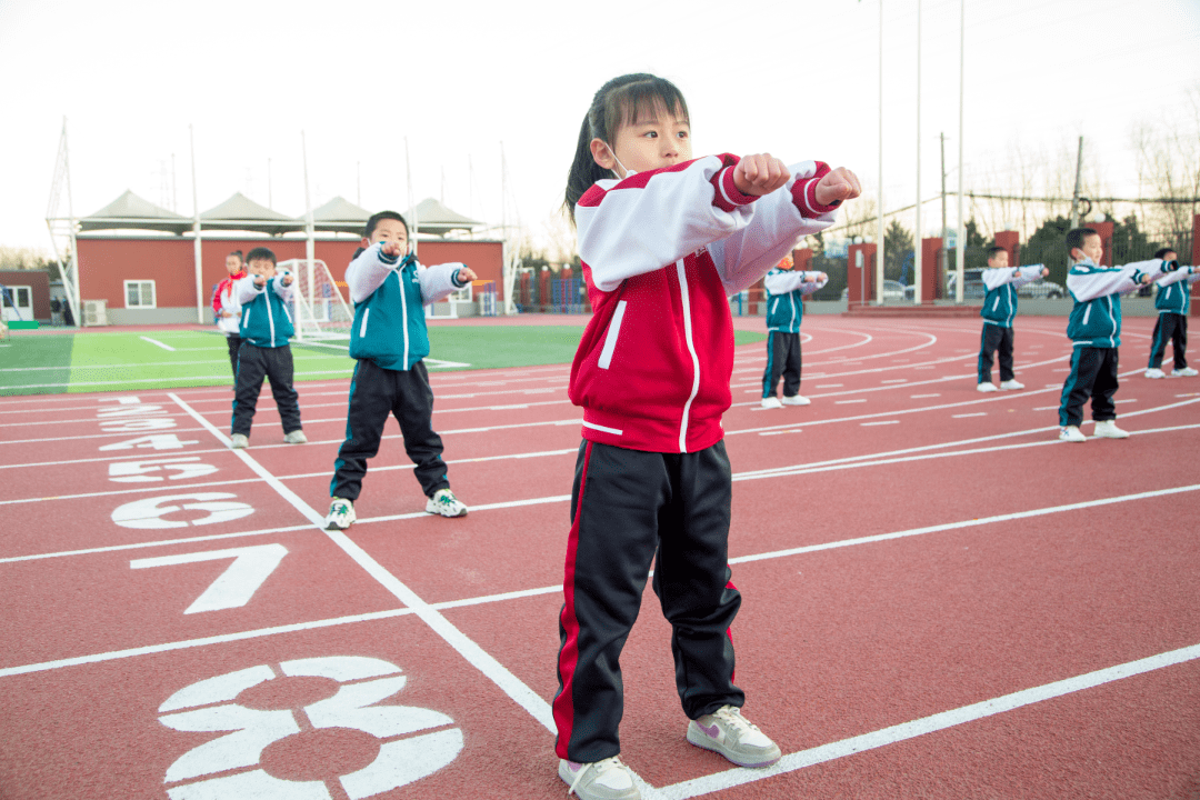
[[[1177,266],[1158,258],[1124,266],[1096,266],[1090,258],[1075,264],[1067,275],[1067,291],[1075,300],[1067,336],[1075,347],[1120,347],[1121,295],[1135,289],[1141,276],[1163,275]]]

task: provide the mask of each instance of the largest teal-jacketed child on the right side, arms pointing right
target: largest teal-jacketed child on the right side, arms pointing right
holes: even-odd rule
[[[1092,398],[1094,437],[1126,439],[1116,426],[1117,348],[1121,345],[1121,295],[1156,276],[1178,269],[1178,261],[1151,259],[1126,266],[1097,266],[1104,252],[1100,235],[1091,228],[1067,233],[1067,248],[1076,261],[1067,276],[1067,290],[1075,300],[1067,321],[1067,336],[1074,342],[1070,374],[1062,387],[1058,407],[1058,438],[1086,441],[1079,426],[1084,403]]]

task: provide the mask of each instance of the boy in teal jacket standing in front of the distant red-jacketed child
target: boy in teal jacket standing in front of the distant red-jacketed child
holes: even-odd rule
[[[307,439],[300,429],[300,396],[292,386],[292,348],[288,345],[288,338],[295,333],[288,311],[295,295],[293,277],[289,272],[275,275],[275,253],[266,247],[250,251],[246,270],[250,275],[236,281],[229,293],[241,308],[230,446],[250,446],[250,426],[264,377],[271,381],[271,395],[283,423],[283,440],[304,444]]]

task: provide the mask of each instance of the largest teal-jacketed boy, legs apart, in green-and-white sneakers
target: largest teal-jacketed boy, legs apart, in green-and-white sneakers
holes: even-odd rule
[[[442,461],[442,438],[433,432],[433,390],[425,368],[430,337],[425,306],[475,279],[466,264],[416,263],[408,242],[408,223],[395,211],[367,219],[362,247],[346,269],[354,301],[350,356],[358,359],[350,381],[346,441],[337,451],[326,530],[353,524],[354,501],[362,491],[367,459],[379,452],[388,415],[404,437],[404,451],[416,464],[416,480],[428,498],[425,510],[463,517],[467,506],[450,491]]]

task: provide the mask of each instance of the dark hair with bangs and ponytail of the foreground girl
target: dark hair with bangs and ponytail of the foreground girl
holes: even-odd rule
[[[622,125],[637,120],[642,113],[660,106],[672,109],[688,119],[688,103],[673,83],[644,72],[613,78],[592,98],[592,107],[580,127],[580,140],[575,145],[575,158],[566,175],[566,193],[563,207],[575,224],[575,205],[583,193],[601,178],[611,173],[592,157],[592,139],[601,139],[612,145],[613,136]]]

